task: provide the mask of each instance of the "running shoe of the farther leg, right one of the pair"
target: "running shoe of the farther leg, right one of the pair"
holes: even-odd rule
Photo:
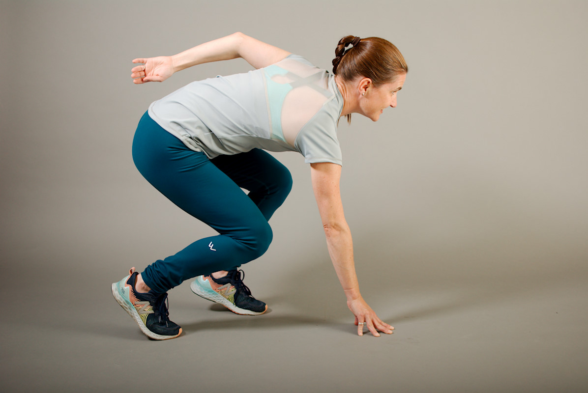
[[[193,293],[222,304],[230,311],[239,315],[260,315],[268,310],[268,305],[251,295],[247,285],[243,284],[243,270],[231,270],[225,277],[214,278],[198,276],[192,281],[190,288]]]

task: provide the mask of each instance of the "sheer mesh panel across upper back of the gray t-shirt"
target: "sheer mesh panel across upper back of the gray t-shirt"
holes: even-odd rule
[[[294,146],[300,129],[332,98],[328,77],[325,70],[288,58],[265,68],[272,139]]]

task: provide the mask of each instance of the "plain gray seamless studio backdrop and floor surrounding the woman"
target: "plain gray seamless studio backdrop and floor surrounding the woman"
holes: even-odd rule
[[[586,391],[586,1],[2,1],[3,391]],[[149,103],[242,59],[135,86],[131,60],[242,31],[323,68],[382,36],[409,64],[396,109],[339,126],[362,293],[355,335],[308,165],[244,266],[241,317],[170,292],[153,342],[110,284],[212,233],[142,179]]]

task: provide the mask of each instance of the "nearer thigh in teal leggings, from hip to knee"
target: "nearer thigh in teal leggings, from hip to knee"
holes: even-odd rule
[[[256,204],[204,153],[189,149],[161,127],[138,130],[133,160],[159,192],[221,234],[242,237],[258,221],[266,222]]]

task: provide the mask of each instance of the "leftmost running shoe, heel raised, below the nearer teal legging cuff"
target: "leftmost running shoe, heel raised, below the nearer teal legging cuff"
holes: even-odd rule
[[[168,294],[135,291],[138,274],[134,267],[131,268],[129,276],[112,284],[112,295],[118,304],[131,315],[147,337],[152,340],[168,340],[178,337],[182,334],[182,328],[169,320],[166,304]]]

